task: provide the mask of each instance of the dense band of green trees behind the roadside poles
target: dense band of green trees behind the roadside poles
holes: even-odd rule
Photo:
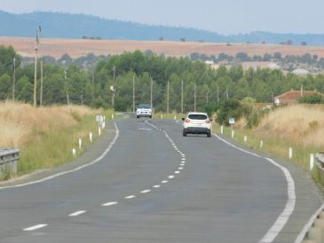
[[[13,75],[13,59],[15,77]],[[65,75],[65,72],[67,75]],[[38,78],[40,68],[38,68]],[[12,99],[13,79],[15,99],[33,103],[34,65],[20,65],[20,56],[12,47],[0,47],[0,99]],[[169,82],[169,85],[168,85]],[[39,82],[37,82],[39,85]],[[115,87],[115,108],[132,110],[133,83],[135,101],[150,104],[153,84],[153,106],[155,111],[166,111],[169,97],[170,111],[181,111],[183,92],[184,112],[203,110],[212,102],[252,98],[257,102],[272,102],[273,98],[287,90],[324,91],[324,76],[283,74],[280,70],[249,69],[241,66],[217,70],[201,61],[188,58],[166,58],[146,55],[140,51],[125,52],[108,59],[101,59],[91,69],[76,65],[62,67],[43,65],[43,105],[73,104],[87,106],[112,106]],[[182,85],[183,84],[183,85]],[[168,94],[169,86],[169,96]],[[183,87],[183,89],[182,89]],[[39,86],[37,104],[39,104]]]

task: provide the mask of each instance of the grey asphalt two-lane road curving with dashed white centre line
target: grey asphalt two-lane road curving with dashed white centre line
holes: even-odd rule
[[[0,242],[294,242],[322,202],[304,171],[221,137],[109,126],[71,164],[0,185]]]

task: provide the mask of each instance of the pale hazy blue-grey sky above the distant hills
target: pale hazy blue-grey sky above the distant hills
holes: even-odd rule
[[[0,0],[5,12],[72,12],[219,34],[324,34],[323,0]]]

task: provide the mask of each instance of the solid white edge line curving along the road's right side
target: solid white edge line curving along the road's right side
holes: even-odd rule
[[[275,239],[278,234],[281,232],[283,227],[286,225],[288,222],[289,217],[291,214],[294,212],[295,206],[296,206],[296,192],[295,192],[295,182],[293,177],[290,175],[289,171],[287,168],[281,166],[277,162],[273,161],[270,158],[263,157],[258,155],[257,153],[251,153],[247,150],[244,150],[236,145],[231,144],[230,142],[226,141],[224,138],[219,137],[217,134],[212,134],[214,137],[217,137],[220,141],[224,142],[227,145],[231,145],[233,148],[240,150],[243,153],[248,153],[250,155],[256,156],[257,158],[263,158],[266,161],[271,162],[274,166],[278,167],[281,169],[283,172],[284,176],[286,177],[286,181],[288,184],[287,187],[287,194],[288,194],[288,200],[286,202],[286,206],[281,212],[281,215],[277,217],[277,220],[273,223],[273,226],[265,233],[264,237],[260,239],[258,242],[259,243],[271,243],[273,242],[273,239]]]

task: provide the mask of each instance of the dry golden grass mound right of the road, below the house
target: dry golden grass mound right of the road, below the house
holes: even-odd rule
[[[283,107],[265,117],[255,131],[260,136],[323,147],[324,110],[304,106]]]

